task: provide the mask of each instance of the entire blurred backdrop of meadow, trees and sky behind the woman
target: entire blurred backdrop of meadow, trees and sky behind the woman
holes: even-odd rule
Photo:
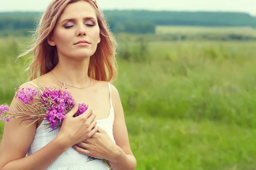
[[[49,2],[0,2],[0,104],[28,79],[15,59]],[[256,170],[256,1],[98,3],[137,169]]]

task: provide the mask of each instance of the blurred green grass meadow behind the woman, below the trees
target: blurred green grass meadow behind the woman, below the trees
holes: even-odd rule
[[[0,103],[26,80],[25,59],[14,63],[23,47],[0,40]],[[114,85],[137,170],[256,169],[255,49],[256,42],[119,44]]]

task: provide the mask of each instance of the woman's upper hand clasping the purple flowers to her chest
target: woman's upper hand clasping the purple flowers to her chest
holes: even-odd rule
[[[83,142],[97,132],[96,116],[93,114],[92,109],[88,107],[83,114],[73,117],[78,111],[78,108],[79,106],[75,104],[72,110],[65,115],[58,134],[58,136],[61,136],[61,139],[66,141],[65,145],[67,147]]]

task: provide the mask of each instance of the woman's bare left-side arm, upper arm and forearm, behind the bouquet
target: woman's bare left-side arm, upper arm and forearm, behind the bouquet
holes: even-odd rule
[[[29,85],[25,84],[20,88],[27,87]],[[17,111],[16,103],[23,105],[17,98],[14,98],[9,111]],[[34,123],[26,127],[29,125],[26,123],[24,121],[20,124],[20,119],[11,119],[10,122],[6,122],[0,145],[1,170],[43,170],[68,149],[66,144],[64,144],[64,139],[61,139],[61,136],[57,136],[45,147],[25,157],[34,139],[37,126],[37,123]]]

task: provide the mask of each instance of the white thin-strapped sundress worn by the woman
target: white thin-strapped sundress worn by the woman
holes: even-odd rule
[[[27,82],[29,84],[32,84],[30,82]],[[35,84],[32,84],[35,85]],[[35,87],[37,87],[35,85]],[[113,137],[113,122],[114,122],[114,110],[112,106],[112,100],[111,100],[111,87],[110,83],[108,82],[109,92],[110,92],[110,103],[111,103],[111,109],[108,118],[97,120],[97,126],[101,127],[102,129],[106,130],[108,135],[111,137],[113,142],[115,143],[114,137]],[[38,87],[37,87],[38,88]],[[40,150],[42,147],[47,145],[49,142],[54,139],[60,128],[53,130],[52,132],[49,132],[50,129],[43,129],[44,123],[46,123],[47,120],[43,120],[41,125],[36,129],[35,137],[32,141],[32,144],[29,147],[29,150],[26,154],[26,156],[32,155],[36,151]],[[109,168],[101,161],[101,160],[92,160],[87,161],[88,156],[81,154],[74,150],[72,147],[70,147],[68,150],[66,150],[64,153],[62,153],[58,159],[56,159],[49,167],[47,167],[47,170],[109,170]]]

